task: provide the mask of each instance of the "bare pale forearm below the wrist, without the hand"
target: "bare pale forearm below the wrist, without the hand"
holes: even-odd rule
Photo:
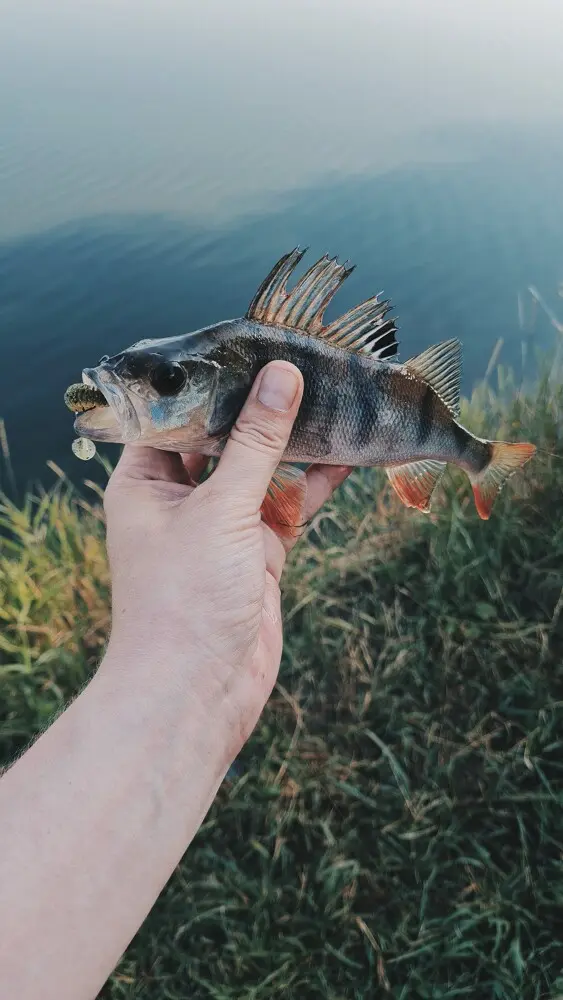
[[[213,718],[180,671],[121,667],[0,781],[0,975],[18,1000],[96,995],[230,762],[221,699]]]

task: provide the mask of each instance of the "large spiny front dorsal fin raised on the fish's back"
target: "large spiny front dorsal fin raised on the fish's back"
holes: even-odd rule
[[[323,337],[336,347],[363,351],[377,360],[394,357],[396,326],[393,320],[385,319],[391,305],[377,295],[350,309],[330,326],[323,325],[326,307],[353,267],[325,255],[291,291],[287,290],[287,282],[304,254],[305,250],[296,247],[278,261],[250,303],[247,319]]]

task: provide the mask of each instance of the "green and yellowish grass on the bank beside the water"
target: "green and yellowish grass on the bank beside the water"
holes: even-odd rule
[[[310,526],[242,773],[105,1000],[563,997],[563,387],[498,380],[465,420],[544,453],[489,522],[461,475],[424,517],[364,473]],[[6,763],[95,668],[109,581],[64,482],[0,515]]]

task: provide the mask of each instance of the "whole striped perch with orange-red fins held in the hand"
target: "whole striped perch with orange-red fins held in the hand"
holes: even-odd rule
[[[304,254],[296,247],[275,264],[244,316],[140,340],[85,368],[66,394],[75,431],[217,457],[259,371],[283,359],[302,372],[304,393],[262,507],[281,534],[297,530],[306,489],[300,466],[310,463],[382,467],[403,504],[425,513],[452,464],[467,473],[477,512],[488,519],[535,446],[480,438],[460,423],[458,339],[400,363],[393,307],[379,295],[326,323],[354,267],[325,254],[289,288]]]

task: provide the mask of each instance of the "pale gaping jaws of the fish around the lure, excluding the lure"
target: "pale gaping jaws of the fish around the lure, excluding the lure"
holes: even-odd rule
[[[94,406],[79,413],[74,429],[92,441],[130,444],[141,436],[141,424],[129,395],[121,380],[109,368],[85,368],[82,372],[85,385],[97,389],[104,396],[107,406]]]

